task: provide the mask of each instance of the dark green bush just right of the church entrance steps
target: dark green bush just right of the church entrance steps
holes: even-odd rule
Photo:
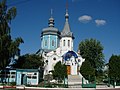
[[[83,77],[89,81],[94,80],[95,77],[95,69],[91,66],[90,62],[86,60],[83,62],[80,73],[83,75]]]

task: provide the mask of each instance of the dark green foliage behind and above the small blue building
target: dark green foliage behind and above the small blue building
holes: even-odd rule
[[[13,65],[14,68],[20,69],[38,69],[43,66],[43,58],[36,54],[25,54],[20,56],[16,63]]]

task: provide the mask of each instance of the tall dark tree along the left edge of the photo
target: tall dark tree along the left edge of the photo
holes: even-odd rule
[[[12,40],[10,35],[10,24],[16,16],[16,8],[8,8],[6,0],[0,1],[0,69],[4,70],[9,65],[11,58],[19,51],[22,38]]]

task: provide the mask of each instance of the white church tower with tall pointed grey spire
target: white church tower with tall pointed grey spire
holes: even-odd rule
[[[74,36],[73,33],[70,31],[68,19],[69,19],[69,14],[68,14],[68,10],[66,9],[65,24],[61,32],[61,40],[60,40],[61,55],[65,54],[68,51],[73,50]]]

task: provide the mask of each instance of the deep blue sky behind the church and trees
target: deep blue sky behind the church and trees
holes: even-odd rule
[[[17,8],[11,35],[23,38],[21,55],[41,48],[41,31],[48,27],[51,9],[55,27],[59,31],[64,27],[66,0],[8,0],[7,5]],[[104,47],[105,62],[120,54],[120,0],[68,0],[68,13],[75,51],[81,41],[94,38]]]

